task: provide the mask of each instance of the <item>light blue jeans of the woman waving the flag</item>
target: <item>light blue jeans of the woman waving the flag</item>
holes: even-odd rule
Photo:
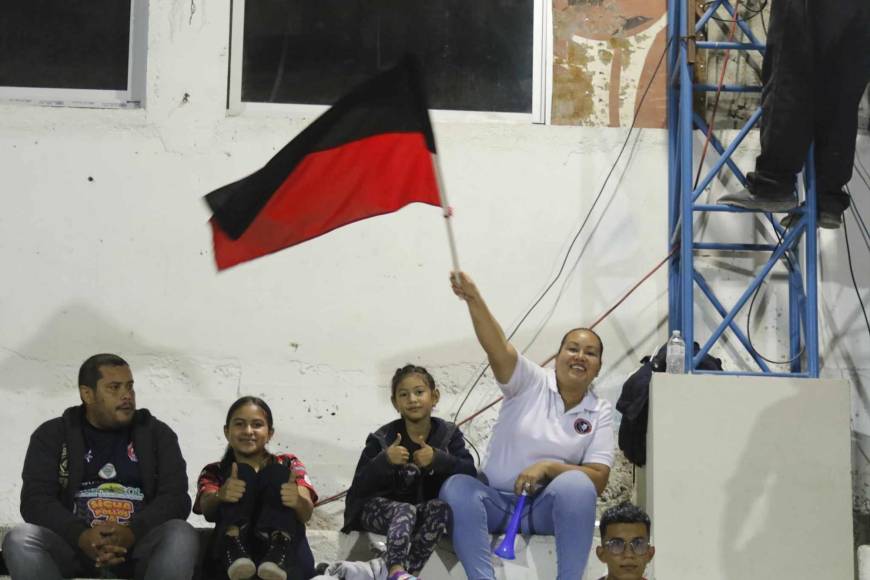
[[[493,580],[490,533],[502,533],[517,496],[468,475],[454,475],[439,494],[453,511],[453,548],[468,580]],[[526,502],[523,534],[556,536],[558,580],[578,580],[586,569],[595,528],[597,493],[589,477],[568,471]]]

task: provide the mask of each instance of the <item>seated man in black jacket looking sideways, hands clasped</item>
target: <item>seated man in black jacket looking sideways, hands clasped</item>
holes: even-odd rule
[[[136,410],[124,359],[79,369],[82,405],[43,423],[24,459],[21,515],[3,542],[15,580],[69,576],[189,580],[198,551],[178,439]]]

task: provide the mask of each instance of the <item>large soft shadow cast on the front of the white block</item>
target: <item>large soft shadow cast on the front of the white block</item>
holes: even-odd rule
[[[727,507],[720,563],[724,578],[782,578],[787,575],[784,563],[794,560],[803,563],[800,577],[845,577],[818,569],[819,562],[832,561],[832,545],[851,562],[852,546],[839,542],[844,539],[840,517],[849,514],[848,496],[838,494],[836,504],[828,501],[832,488],[844,487],[833,468],[841,467],[845,451],[814,457],[806,450],[818,450],[820,438],[839,441],[841,435],[846,445],[848,426],[824,424],[824,418],[808,414],[805,394],[795,390],[764,410],[733,477],[724,485]],[[721,427],[727,438],[727,422]],[[785,432],[790,436],[786,445]],[[846,473],[839,475],[846,477]],[[819,499],[801,501],[809,497]],[[786,568],[794,572],[797,566],[792,563]]]

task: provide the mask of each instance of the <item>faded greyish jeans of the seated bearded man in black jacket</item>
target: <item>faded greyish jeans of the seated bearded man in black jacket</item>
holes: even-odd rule
[[[137,579],[190,580],[199,554],[199,537],[183,520],[169,520],[133,544]],[[84,554],[59,535],[34,524],[15,526],[3,539],[3,559],[15,580],[60,580],[88,570]]]

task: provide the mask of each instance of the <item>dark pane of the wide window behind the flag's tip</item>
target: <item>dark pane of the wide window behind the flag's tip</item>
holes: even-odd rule
[[[242,100],[332,104],[405,52],[434,109],[531,112],[534,0],[247,0]]]

